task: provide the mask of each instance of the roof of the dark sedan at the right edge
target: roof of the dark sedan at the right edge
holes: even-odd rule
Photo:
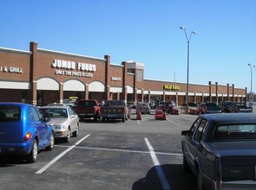
[[[220,113],[202,116],[216,123],[256,123],[256,113]]]

